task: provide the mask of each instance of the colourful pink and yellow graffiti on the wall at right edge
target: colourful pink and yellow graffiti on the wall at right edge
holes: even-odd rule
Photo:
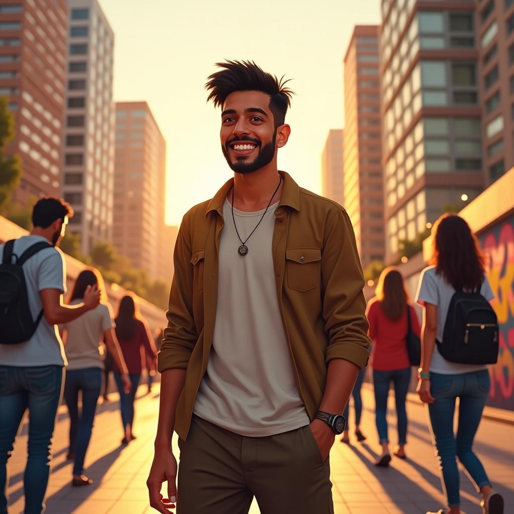
[[[491,304],[500,323],[500,354],[490,366],[488,405],[514,411],[514,216],[480,235],[489,259]]]

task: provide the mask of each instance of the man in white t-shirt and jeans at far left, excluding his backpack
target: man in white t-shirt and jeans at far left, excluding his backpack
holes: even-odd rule
[[[24,475],[25,514],[44,511],[50,471],[53,433],[66,365],[57,324],[72,321],[94,309],[100,301],[96,288],[88,288],[84,301],[64,305],[66,272],[56,248],[64,236],[70,206],[58,198],[43,198],[32,212],[29,235],[0,246],[0,262],[14,263],[34,245],[43,246],[23,264],[28,306],[33,320],[43,315],[26,342],[2,344],[0,334],[0,513],[7,513],[7,460],[25,411],[29,410],[28,460]],[[45,247],[46,243],[48,246]]]

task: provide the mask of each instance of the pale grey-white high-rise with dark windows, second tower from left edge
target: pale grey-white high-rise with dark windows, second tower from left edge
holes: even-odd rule
[[[81,250],[111,241],[114,181],[114,33],[97,0],[68,0],[62,192]]]

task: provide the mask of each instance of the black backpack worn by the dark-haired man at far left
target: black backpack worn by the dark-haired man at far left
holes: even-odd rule
[[[13,246],[14,240],[4,245],[4,258],[0,263],[0,343],[2,344],[28,341],[38,328],[43,317],[43,309],[33,320],[22,265],[39,251],[53,248],[50,243],[41,241],[18,256],[13,253]]]

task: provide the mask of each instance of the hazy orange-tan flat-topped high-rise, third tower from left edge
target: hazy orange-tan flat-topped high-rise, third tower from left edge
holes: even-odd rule
[[[169,280],[166,141],[146,102],[116,103],[113,242],[152,279]]]

